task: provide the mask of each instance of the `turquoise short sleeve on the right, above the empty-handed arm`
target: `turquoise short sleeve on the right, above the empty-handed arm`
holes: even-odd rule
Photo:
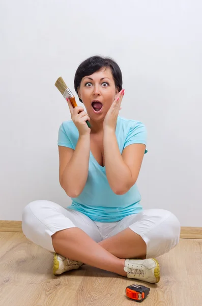
[[[133,143],[142,143],[147,146],[147,130],[143,123],[136,122],[133,126],[130,127],[130,130],[127,134],[124,148]],[[145,154],[148,150],[145,150]]]

